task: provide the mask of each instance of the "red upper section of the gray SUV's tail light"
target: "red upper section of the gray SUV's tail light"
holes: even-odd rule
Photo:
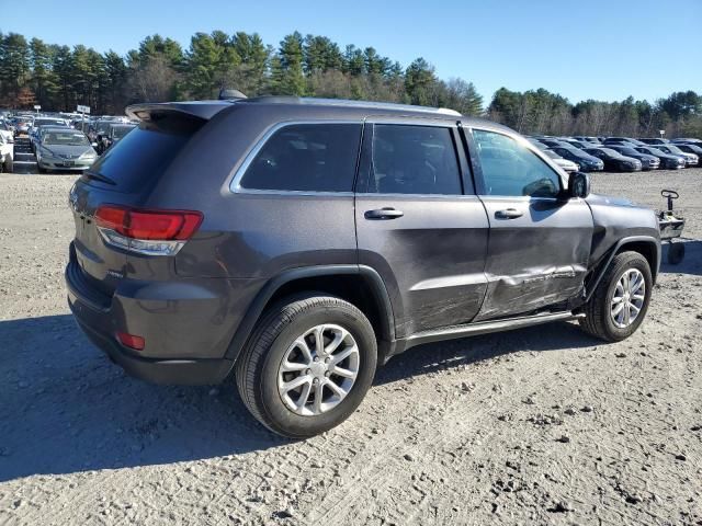
[[[102,205],[95,213],[98,227],[109,228],[132,239],[183,241],[202,222],[202,213],[192,210],[140,210]]]

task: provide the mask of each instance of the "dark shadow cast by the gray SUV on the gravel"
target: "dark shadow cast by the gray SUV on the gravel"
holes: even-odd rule
[[[151,466],[284,446],[244,408],[233,384],[155,386],[129,378],[72,317],[0,322],[0,482],[33,474]],[[571,324],[414,348],[376,385],[516,351],[597,344]]]

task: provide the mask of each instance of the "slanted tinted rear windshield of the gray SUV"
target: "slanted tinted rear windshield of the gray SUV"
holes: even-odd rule
[[[141,123],[83,173],[91,184],[132,192],[163,173],[190,140],[201,122],[169,119]]]

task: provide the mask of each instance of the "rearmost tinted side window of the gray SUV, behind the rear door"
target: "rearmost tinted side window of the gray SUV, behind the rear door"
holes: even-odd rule
[[[281,192],[352,192],[361,127],[361,123],[284,126],[256,153],[239,185]]]

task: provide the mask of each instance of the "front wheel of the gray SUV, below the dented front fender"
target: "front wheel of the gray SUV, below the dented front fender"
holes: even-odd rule
[[[622,252],[610,263],[595,294],[585,305],[582,329],[608,342],[631,336],[644,321],[653,277],[648,261],[638,252]]]

